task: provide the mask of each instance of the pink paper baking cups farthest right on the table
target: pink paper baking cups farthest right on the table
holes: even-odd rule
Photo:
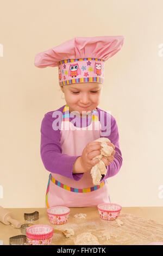
[[[120,214],[122,206],[118,204],[98,204],[97,208],[103,220],[114,221]]]

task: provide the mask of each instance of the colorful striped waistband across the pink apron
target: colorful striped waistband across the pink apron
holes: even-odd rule
[[[99,188],[103,187],[106,183],[106,180],[104,180],[99,185],[82,189],[82,188],[68,187],[68,186],[62,184],[61,182],[59,182],[58,180],[55,180],[52,177],[52,174],[49,175],[49,180],[51,180],[55,185],[64,188],[65,190],[68,190],[68,191],[71,191],[71,192],[77,192],[77,193],[87,193],[87,192],[92,192],[92,191],[98,190]]]

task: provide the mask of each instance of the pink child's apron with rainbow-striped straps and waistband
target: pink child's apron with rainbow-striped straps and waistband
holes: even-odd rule
[[[83,149],[89,142],[101,137],[98,112],[92,111],[92,123],[87,127],[76,127],[69,118],[69,107],[65,105],[60,130],[62,154],[82,155]],[[55,205],[96,207],[100,203],[110,203],[108,183],[104,180],[100,185],[93,185],[90,171],[84,173],[79,181],[60,174],[51,173],[49,175],[46,191],[47,208]]]

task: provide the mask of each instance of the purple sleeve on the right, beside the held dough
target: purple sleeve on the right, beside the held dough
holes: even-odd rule
[[[104,112],[104,122],[101,120],[101,126],[101,137],[110,139],[110,142],[115,145],[115,155],[114,160],[110,162],[109,166],[106,166],[106,175],[101,179],[100,182],[102,182],[104,179],[108,179],[109,177],[116,175],[121,169],[123,162],[119,145],[118,127],[115,118],[112,117],[111,114]]]

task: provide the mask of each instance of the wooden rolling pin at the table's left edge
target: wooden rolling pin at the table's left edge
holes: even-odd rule
[[[21,227],[21,223],[15,220],[11,212],[4,209],[2,206],[0,206],[0,221],[5,225],[9,225],[11,223],[15,228]]]

